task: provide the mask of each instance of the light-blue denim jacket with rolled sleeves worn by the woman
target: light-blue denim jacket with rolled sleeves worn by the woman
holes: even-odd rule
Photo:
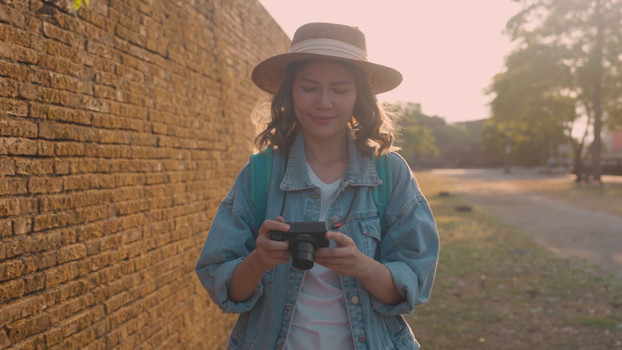
[[[381,232],[371,191],[381,180],[350,137],[348,150],[348,167],[328,208],[328,217],[341,218],[340,231],[350,236],[361,252],[389,268],[397,291],[406,298],[399,305],[385,305],[356,278],[341,276],[356,349],[419,349],[401,315],[412,313],[415,305],[430,297],[439,256],[434,217],[404,159],[391,153],[393,190]],[[237,303],[227,298],[233,272],[256,248],[261,225],[255,222],[249,198],[250,179],[246,164],[218,207],[195,271],[223,312],[240,314],[227,349],[283,349],[305,271],[293,268],[290,260],[267,271],[248,300]],[[284,154],[275,152],[272,156],[267,219],[281,214],[284,191],[288,192],[282,215],[286,222],[317,221],[320,190],[307,174],[302,133],[290,148],[287,169]]]

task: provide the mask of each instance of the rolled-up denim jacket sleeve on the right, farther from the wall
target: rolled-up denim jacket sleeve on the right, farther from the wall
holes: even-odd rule
[[[401,158],[392,161],[404,162]],[[412,313],[416,305],[429,300],[440,247],[432,210],[414,176],[405,163],[394,165],[394,188],[387,206],[388,227],[380,242],[380,262],[389,269],[397,291],[406,301],[386,305],[372,297],[373,310],[386,316]]]

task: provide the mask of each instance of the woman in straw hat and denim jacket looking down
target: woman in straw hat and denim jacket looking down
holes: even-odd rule
[[[261,62],[253,82],[274,95],[255,146],[272,148],[266,220],[256,223],[242,169],[211,226],[196,271],[211,299],[240,313],[228,349],[418,349],[402,318],[429,299],[439,254],[432,212],[375,97],[401,83],[366,58],[358,29],[310,23],[290,52]],[[391,157],[381,227],[369,156]],[[330,247],[292,267],[287,222],[325,222]]]

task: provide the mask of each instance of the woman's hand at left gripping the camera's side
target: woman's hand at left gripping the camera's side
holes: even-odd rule
[[[266,220],[259,228],[259,234],[255,242],[257,248],[253,251],[254,260],[258,267],[262,270],[270,270],[276,265],[286,263],[292,256],[292,253],[287,250],[289,248],[289,242],[276,241],[270,239],[270,230],[289,231],[289,225],[285,224],[285,220],[282,217],[277,217],[274,220]]]

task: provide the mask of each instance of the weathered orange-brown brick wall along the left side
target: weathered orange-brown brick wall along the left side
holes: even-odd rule
[[[0,0],[0,349],[219,349],[194,265],[248,160],[257,0]]]

